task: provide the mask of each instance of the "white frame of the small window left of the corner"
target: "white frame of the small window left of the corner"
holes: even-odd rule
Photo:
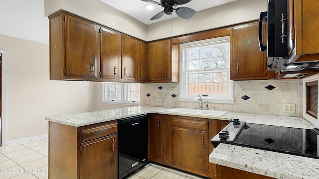
[[[121,92],[120,92],[120,96],[121,99],[120,100],[111,100],[111,99],[107,99],[107,96],[105,95],[106,93],[106,85],[108,84],[117,84],[120,85],[121,88]],[[125,90],[127,85],[132,85],[132,84],[137,84],[139,86],[138,92],[139,94],[139,99],[138,101],[129,101],[129,100],[125,100],[125,96],[128,94],[127,91]],[[113,83],[113,82],[103,82],[102,83],[102,103],[104,104],[121,104],[121,105],[140,105],[141,104],[141,84],[139,83]]]

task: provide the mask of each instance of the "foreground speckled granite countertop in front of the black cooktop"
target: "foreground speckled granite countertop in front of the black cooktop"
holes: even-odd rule
[[[318,179],[319,159],[221,143],[209,162],[276,179]]]

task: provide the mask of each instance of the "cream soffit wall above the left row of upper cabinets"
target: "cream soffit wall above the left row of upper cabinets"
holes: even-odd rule
[[[136,38],[146,39],[146,25],[101,0],[44,0],[45,15],[64,9]]]

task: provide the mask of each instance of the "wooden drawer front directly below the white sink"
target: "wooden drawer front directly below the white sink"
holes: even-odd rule
[[[195,130],[208,130],[208,121],[171,118],[171,126]]]

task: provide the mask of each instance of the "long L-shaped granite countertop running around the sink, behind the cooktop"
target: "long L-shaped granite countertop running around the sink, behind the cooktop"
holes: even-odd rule
[[[46,117],[45,120],[51,122],[57,122],[61,124],[66,124],[70,126],[80,127],[90,124],[96,124],[101,122],[107,122],[111,120],[132,117],[148,113],[159,113],[159,114],[169,114],[169,115],[180,115],[180,116],[190,116],[190,117],[201,117],[208,119],[218,119],[218,120],[233,120],[239,118],[241,121],[246,121],[248,123],[258,123],[258,124],[268,124],[277,125],[285,127],[298,127],[312,129],[314,125],[302,117],[289,117],[289,116],[274,116],[274,115],[262,115],[262,114],[249,114],[240,112],[228,112],[225,115],[211,116],[205,114],[184,114],[178,112],[169,111],[173,108],[168,107],[151,107],[151,106],[133,106],[117,109],[108,109],[93,112],[84,112],[76,114],[67,114],[54,117]]]

